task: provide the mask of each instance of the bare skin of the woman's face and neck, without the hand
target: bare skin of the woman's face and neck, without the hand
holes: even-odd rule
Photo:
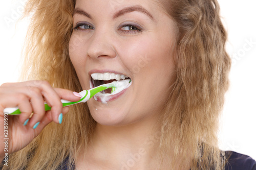
[[[136,10],[113,18],[131,6],[144,8],[152,17]],[[77,157],[76,168],[121,169],[122,162],[141,148],[144,154],[130,169],[159,168],[157,120],[174,80],[173,20],[151,0],[77,0],[75,8],[90,15],[74,13],[73,27],[86,22],[89,29],[75,29],[69,45],[82,88],[90,88],[95,71],[116,71],[132,79],[132,85],[108,105],[87,102],[97,126],[89,149]],[[138,29],[129,30],[127,25]]]

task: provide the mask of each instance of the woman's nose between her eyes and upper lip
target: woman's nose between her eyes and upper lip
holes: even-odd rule
[[[95,30],[89,39],[87,55],[90,58],[114,58],[116,51],[113,46],[113,36],[108,31]]]

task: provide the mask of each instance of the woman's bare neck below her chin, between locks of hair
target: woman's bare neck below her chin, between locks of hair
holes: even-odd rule
[[[160,160],[161,125],[151,116],[125,126],[97,124],[86,158],[94,163],[106,162],[110,169],[152,169]],[[155,168],[156,169],[156,168]]]

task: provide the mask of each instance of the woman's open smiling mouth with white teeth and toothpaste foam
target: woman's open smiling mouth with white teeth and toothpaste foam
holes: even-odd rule
[[[93,73],[91,75],[91,81],[90,81],[90,88],[97,87],[101,84],[111,83],[113,81],[126,81],[126,79],[131,80],[129,77],[121,74],[115,74],[113,72],[104,72],[104,73]],[[130,84],[131,85],[131,84]],[[129,86],[130,86],[129,85]],[[101,102],[103,104],[106,104],[106,102],[113,101],[117,99],[121,94],[124,93],[124,91],[129,87],[122,87],[120,89],[116,89],[113,94],[110,94],[112,91],[112,88],[103,90],[99,93],[97,93],[94,97],[94,99],[98,102]]]

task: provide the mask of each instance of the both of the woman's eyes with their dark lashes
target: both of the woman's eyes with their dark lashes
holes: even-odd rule
[[[93,29],[89,29],[89,28],[88,29],[81,29],[80,28],[81,26],[89,26],[89,27],[92,27]],[[125,28],[125,27],[133,27],[136,30],[122,30],[122,28]],[[73,30],[75,30],[75,31],[88,31],[88,30],[94,30],[94,27],[91,26],[89,23],[77,23],[76,27],[74,27]],[[118,30],[121,31],[122,33],[125,33],[125,34],[136,34],[136,33],[141,33],[142,32],[142,28],[140,28],[138,26],[135,26],[133,24],[126,24],[124,26],[121,26]]]

